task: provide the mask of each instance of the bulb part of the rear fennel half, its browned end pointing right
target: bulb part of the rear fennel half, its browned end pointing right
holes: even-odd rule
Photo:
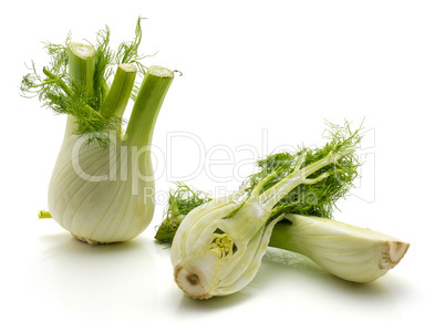
[[[403,258],[410,243],[344,222],[284,215],[269,246],[307,256],[344,280],[370,282],[384,276]]]

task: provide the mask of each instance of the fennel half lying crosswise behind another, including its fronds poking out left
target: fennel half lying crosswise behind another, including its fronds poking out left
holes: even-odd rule
[[[210,200],[205,193],[179,184],[170,193],[166,217],[155,238],[172,241],[184,218]],[[410,243],[328,218],[284,214],[273,227],[269,247],[303,255],[341,279],[370,282],[394,268]]]

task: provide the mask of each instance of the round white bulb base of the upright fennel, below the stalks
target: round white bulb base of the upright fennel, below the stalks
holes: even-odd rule
[[[134,155],[133,160],[132,153],[138,149],[120,138],[106,149],[84,143],[76,135],[64,139],[50,181],[49,210],[82,241],[130,240],[149,225],[154,214],[149,152]]]

